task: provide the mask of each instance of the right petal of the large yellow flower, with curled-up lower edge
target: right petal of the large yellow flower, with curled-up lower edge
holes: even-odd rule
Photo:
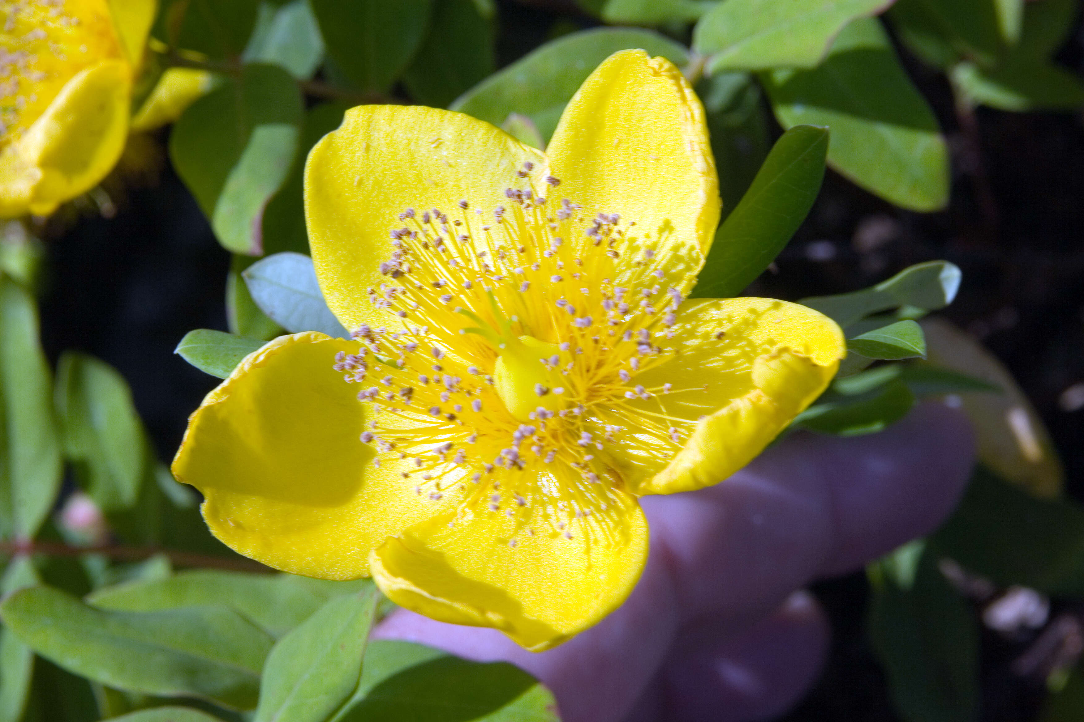
[[[689,301],[673,330],[667,345],[679,354],[635,378],[672,390],[599,416],[630,426],[605,454],[637,495],[702,488],[749,463],[825,390],[847,350],[827,316],[773,299]]]

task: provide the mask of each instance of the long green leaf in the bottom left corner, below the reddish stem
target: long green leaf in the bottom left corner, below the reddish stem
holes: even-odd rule
[[[271,638],[227,607],[104,612],[50,587],[15,592],[0,614],[43,657],[95,682],[251,709]]]

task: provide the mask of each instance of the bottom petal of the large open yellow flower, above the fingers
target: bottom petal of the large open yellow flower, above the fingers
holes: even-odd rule
[[[647,522],[634,499],[621,499],[566,531],[541,506],[517,520],[461,510],[388,539],[372,554],[373,578],[408,609],[493,627],[542,652],[597,623],[636,585]]]

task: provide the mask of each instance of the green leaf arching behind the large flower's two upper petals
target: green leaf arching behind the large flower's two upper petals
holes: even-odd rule
[[[565,105],[604,60],[620,50],[643,48],[674,65],[688,62],[686,50],[657,32],[597,28],[563,36],[528,53],[461,95],[450,106],[500,126],[509,113],[530,118],[550,141]]]

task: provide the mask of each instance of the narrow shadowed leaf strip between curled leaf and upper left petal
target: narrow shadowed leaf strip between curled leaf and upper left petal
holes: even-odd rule
[[[338,128],[348,107],[344,102],[321,103],[305,114],[294,167],[263,210],[263,252],[268,255],[283,251],[309,252],[309,234],[305,227],[305,159],[321,137]]]

